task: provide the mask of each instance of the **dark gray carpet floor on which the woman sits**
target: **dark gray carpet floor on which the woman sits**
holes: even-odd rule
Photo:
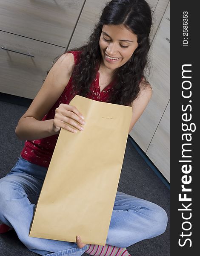
[[[14,166],[23,142],[15,136],[18,120],[27,107],[0,101],[0,178]],[[166,210],[170,221],[170,191],[135,150],[128,137],[118,191],[146,199]],[[131,256],[169,256],[170,226],[160,236],[127,248]],[[34,256],[18,239],[14,230],[0,234],[0,256]],[[83,254],[86,256],[87,254]]]

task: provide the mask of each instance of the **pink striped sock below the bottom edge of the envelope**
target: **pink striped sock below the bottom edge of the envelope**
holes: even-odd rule
[[[105,246],[88,244],[85,253],[94,256],[130,256],[126,248],[115,247],[108,244]]]

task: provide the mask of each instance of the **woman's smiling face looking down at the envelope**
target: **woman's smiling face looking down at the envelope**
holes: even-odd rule
[[[138,47],[137,35],[124,25],[103,25],[99,45],[102,65],[106,69],[115,70],[129,61]]]

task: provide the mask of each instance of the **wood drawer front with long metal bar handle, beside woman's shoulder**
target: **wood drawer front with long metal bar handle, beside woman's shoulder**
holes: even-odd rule
[[[62,47],[0,31],[0,92],[34,99],[54,58],[64,51]]]

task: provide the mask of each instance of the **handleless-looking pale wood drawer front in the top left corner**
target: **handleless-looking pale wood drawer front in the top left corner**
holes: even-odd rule
[[[0,1],[0,30],[67,47],[84,0]]]

